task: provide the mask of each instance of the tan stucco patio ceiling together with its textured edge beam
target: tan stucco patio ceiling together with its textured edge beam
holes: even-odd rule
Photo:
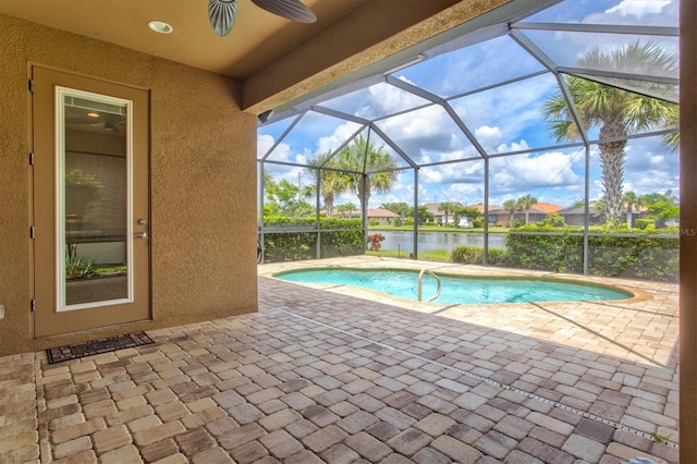
[[[317,15],[294,23],[237,0],[232,32],[217,36],[208,0],[0,0],[0,13],[233,77],[242,108],[261,113],[503,4],[555,0],[303,0]],[[157,34],[151,20],[173,32]],[[386,57],[393,57],[387,58]]]

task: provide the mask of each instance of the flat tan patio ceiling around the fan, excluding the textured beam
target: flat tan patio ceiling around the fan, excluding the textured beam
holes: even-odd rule
[[[0,0],[0,12],[235,78],[244,78],[351,14],[367,0],[304,0],[314,24],[294,23],[239,0],[232,32],[217,36],[207,0]],[[151,20],[171,34],[148,28]]]

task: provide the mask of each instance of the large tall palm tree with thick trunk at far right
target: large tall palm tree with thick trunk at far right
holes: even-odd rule
[[[643,72],[651,75],[671,75],[677,69],[677,60],[661,47],[651,42],[635,41],[624,48],[588,51],[578,60],[580,68],[617,72]],[[657,74],[658,73],[658,74]],[[628,134],[667,126],[671,111],[676,107],[668,101],[587,81],[576,76],[566,77],[566,86],[576,107],[584,130],[599,126],[600,166],[602,169],[603,199],[609,222],[616,222],[622,210],[622,178],[626,137]],[[562,94],[550,97],[542,110],[557,142],[578,139],[580,129],[572,118]],[[664,137],[670,142],[670,137]]]

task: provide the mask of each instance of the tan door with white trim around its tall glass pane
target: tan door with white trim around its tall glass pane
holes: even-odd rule
[[[30,146],[34,338],[151,319],[149,91],[40,64],[32,64],[29,73],[33,89]],[[57,288],[63,284],[60,265],[57,261],[60,261],[59,253],[63,253],[64,246],[58,243],[61,223],[59,221],[63,218],[58,217],[57,206],[61,143],[57,120],[60,117],[60,88],[130,102],[131,148],[126,148],[126,174],[132,175],[126,188],[126,254],[132,254],[132,268],[127,269],[126,300],[115,300],[112,301],[113,304],[96,303],[72,308],[68,306],[63,310],[59,310],[61,302]],[[137,222],[138,219],[145,219],[145,224]],[[147,239],[135,240],[135,233],[145,233]]]

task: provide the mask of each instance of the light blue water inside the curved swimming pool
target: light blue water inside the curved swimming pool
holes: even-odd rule
[[[489,304],[524,302],[570,302],[625,300],[629,292],[610,286],[558,279],[454,277],[438,273],[441,294],[433,303]],[[321,268],[279,272],[274,277],[292,282],[354,285],[408,300],[418,300],[418,271],[393,269]],[[438,284],[424,274],[421,300],[436,294]]]

